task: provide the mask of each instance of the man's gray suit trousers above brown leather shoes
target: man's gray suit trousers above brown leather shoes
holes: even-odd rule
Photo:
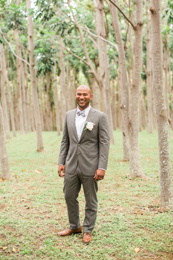
[[[94,173],[95,175],[95,173]],[[84,175],[77,164],[73,174],[65,173],[64,176],[64,198],[67,205],[67,213],[69,220],[69,228],[72,230],[80,228],[79,218],[79,201],[78,195],[81,189],[81,184],[85,195],[85,219],[83,223],[83,232],[91,233],[97,216],[97,191],[98,181],[94,180],[93,176]]]

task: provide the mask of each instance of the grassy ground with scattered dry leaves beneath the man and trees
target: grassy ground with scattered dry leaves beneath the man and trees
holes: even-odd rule
[[[44,132],[44,153],[36,152],[36,133],[7,140],[15,178],[0,181],[0,259],[173,259],[173,215],[159,207],[157,134],[139,134],[142,169],[152,180],[128,179],[129,163],[121,161],[122,133],[114,135],[88,245],[82,243],[82,234],[57,235],[68,227],[63,178],[57,173],[61,136]],[[173,139],[170,147],[173,151]],[[83,190],[79,202],[82,223]]]

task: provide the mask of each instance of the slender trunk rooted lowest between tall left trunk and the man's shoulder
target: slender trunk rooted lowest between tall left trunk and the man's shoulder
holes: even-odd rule
[[[54,67],[53,67],[53,75],[54,75],[54,103],[55,103],[55,115],[56,115],[56,127],[57,134],[60,135],[61,127],[60,127],[60,117],[59,117],[59,105],[58,105],[58,91],[57,91],[57,74],[56,74],[56,59],[54,56]]]

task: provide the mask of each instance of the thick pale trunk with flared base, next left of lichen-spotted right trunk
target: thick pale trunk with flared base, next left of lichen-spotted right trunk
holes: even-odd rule
[[[134,177],[148,178],[141,168],[139,153],[139,88],[141,82],[142,69],[142,28],[143,28],[143,2],[136,1],[136,30],[135,30],[135,62],[132,85],[132,119],[129,122],[129,142],[130,142],[130,174]]]

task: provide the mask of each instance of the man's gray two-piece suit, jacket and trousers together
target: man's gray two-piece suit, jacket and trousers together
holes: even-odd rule
[[[106,114],[91,107],[86,121],[93,122],[95,126],[91,131],[82,131],[78,140],[76,111],[73,109],[66,113],[58,164],[65,165],[64,194],[69,228],[74,230],[80,227],[77,198],[82,184],[86,200],[83,231],[92,232],[97,214],[98,190],[98,182],[94,181],[93,176],[98,168],[107,168],[109,126]]]

